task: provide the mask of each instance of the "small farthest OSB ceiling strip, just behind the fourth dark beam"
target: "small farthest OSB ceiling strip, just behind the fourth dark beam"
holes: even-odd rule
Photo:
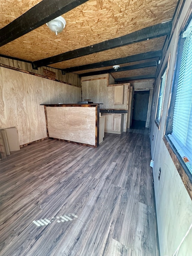
[[[150,68],[138,68],[128,71],[121,71],[121,72],[113,72],[113,77],[116,78],[123,78],[123,77],[136,77],[142,75],[154,75],[156,73],[157,67],[150,67]]]

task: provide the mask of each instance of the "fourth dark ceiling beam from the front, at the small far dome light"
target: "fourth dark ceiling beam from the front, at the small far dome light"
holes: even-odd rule
[[[121,71],[127,71],[127,70],[133,70],[138,68],[149,68],[149,67],[155,67],[158,66],[158,60],[157,61],[151,61],[151,62],[144,62],[137,65],[130,65],[126,67],[120,67],[118,70],[114,70],[113,68],[95,71],[95,72],[88,72],[79,74],[79,77],[87,77],[87,76],[94,76],[94,75],[101,75],[101,74],[107,74],[107,73],[113,73],[113,72],[121,72]]]

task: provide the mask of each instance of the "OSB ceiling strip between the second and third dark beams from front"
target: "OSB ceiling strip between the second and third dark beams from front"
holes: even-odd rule
[[[74,66],[81,66],[86,64],[92,64],[96,62],[107,61],[111,59],[125,58],[127,56],[146,53],[149,51],[161,50],[164,45],[166,36],[160,38],[154,38],[147,41],[129,44],[126,46],[110,49],[107,51],[93,53],[76,59],[70,59],[64,62],[59,62],[50,65],[53,68],[69,68]]]

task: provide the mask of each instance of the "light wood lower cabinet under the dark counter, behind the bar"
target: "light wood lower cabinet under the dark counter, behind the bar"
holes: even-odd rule
[[[122,133],[124,114],[104,113],[102,116],[105,116],[105,132]]]

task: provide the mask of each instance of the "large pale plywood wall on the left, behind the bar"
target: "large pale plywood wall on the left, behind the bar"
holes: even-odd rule
[[[47,137],[40,104],[80,100],[81,88],[0,67],[0,128],[16,127],[20,145]]]

